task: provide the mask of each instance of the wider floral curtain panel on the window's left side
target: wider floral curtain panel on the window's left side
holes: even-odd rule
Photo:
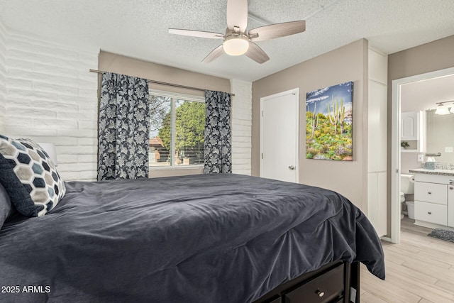
[[[148,100],[146,79],[103,73],[98,180],[148,177]]]

